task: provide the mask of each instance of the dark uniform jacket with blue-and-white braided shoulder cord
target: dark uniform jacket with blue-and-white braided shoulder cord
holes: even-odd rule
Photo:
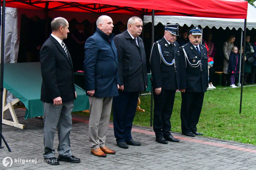
[[[175,62],[173,65],[166,65],[160,56],[158,50],[158,44],[161,46],[161,52],[167,63],[172,63],[173,59]],[[162,87],[167,90],[179,89],[179,44],[173,42],[174,50],[168,44],[163,37],[162,40],[158,40],[153,44],[151,57],[150,57],[150,68],[152,73],[152,86],[154,88]]]

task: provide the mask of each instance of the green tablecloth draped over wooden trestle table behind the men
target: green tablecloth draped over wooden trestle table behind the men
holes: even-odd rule
[[[4,64],[4,88],[16,96],[27,108],[25,119],[43,116],[44,109],[41,95],[40,63],[6,63]],[[89,109],[86,92],[76,86],[77,98],[73,111]]]

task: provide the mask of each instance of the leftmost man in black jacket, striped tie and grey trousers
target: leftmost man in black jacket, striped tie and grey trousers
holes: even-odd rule
[[[68,21],[55,18],[51,22],[52,34],[43,44],[41,62],[41,101],[44,106],[44,145],[46,163],[59,165],[59,161],[80,162],[70,151],[69,135],[72,129],[71,111],[76,99],[71,56],[63,39],[67,38]],[[58,128],[58,159],[55,157],[53,140]]]

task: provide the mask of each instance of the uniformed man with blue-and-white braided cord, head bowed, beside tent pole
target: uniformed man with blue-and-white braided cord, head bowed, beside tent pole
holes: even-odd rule
[[[167,141],[179,142],[170,133],[175,93],[179,89],[179,44],[175,42],[179,25],[165,25],[164,37],[153,44],[150,66],[154,91],[153,129],[156,141],[167,144]]]

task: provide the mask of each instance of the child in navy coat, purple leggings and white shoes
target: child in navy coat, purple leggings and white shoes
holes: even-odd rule
[[[237,52],[238,52],[237,46],[233,46],[232,52],[229,56],[228,72],[231,73],[231,75],[230,75],[230,87],[232,87],[232,88],[237,87],[235,85],[235,77],[236,77],[236,74],[239,73],[239,69],[240,69],[240,67],[239,67],[240,56]]]

